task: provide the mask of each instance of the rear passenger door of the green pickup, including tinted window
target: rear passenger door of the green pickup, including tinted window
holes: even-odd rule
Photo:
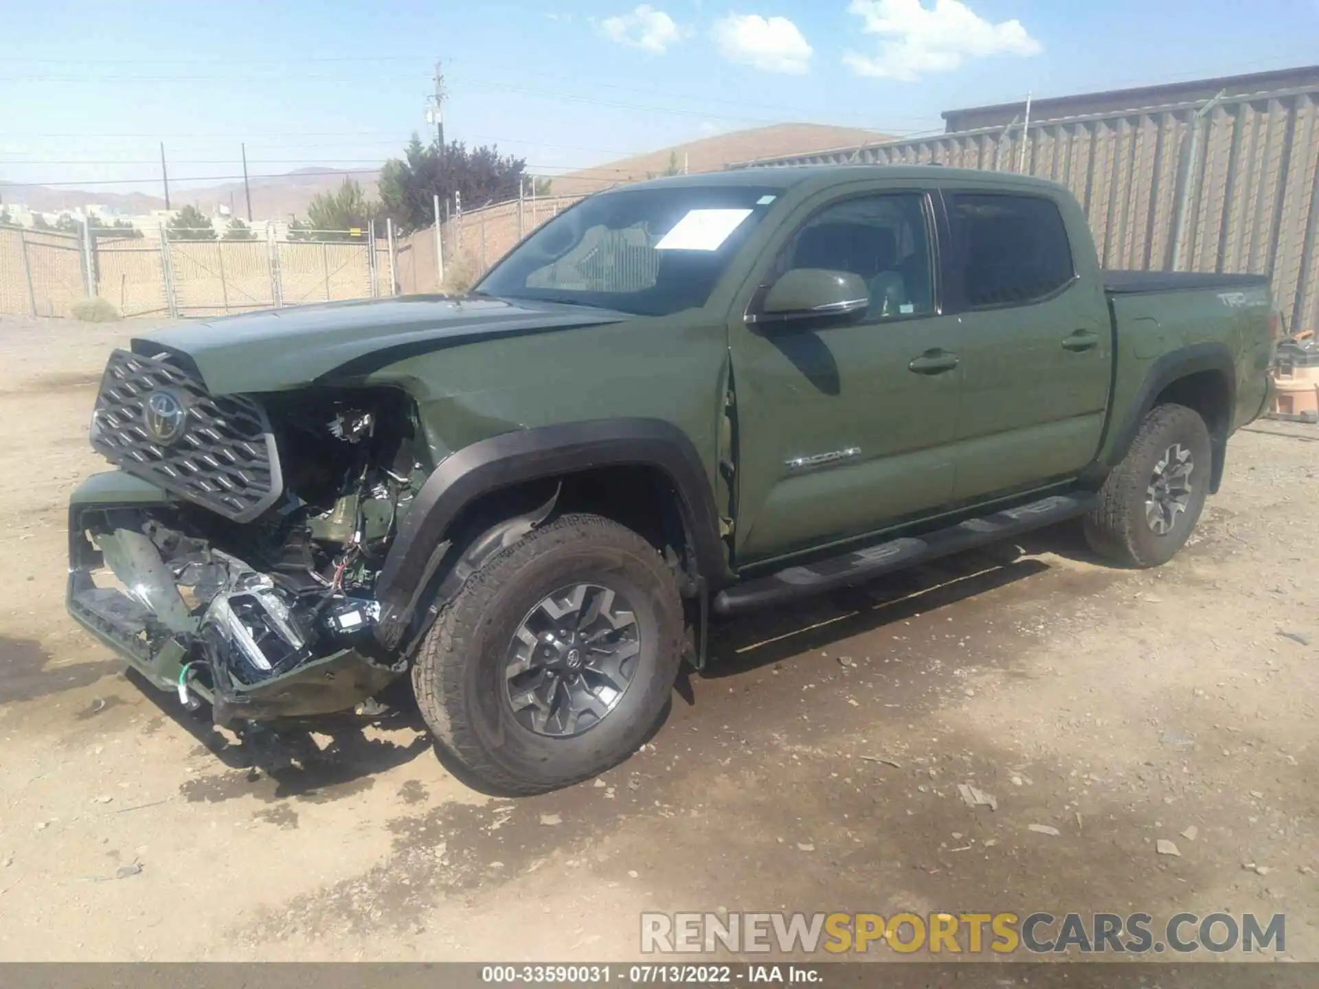
[[[1070,239],[1045,190],[952,187],[944,202],[950,309],[964,328],[955,498],[1075,477],[1099,448],[1112,361],[1084,220],[1075,210],[1086,240]]]

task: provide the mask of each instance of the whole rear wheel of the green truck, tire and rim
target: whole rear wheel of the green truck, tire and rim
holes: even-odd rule
[[[1128,567],[1167,563],[1200,518],[1211,467],[1210,431],[1199,413],[1184,405],[1151,409],[1086,517],[1091,547]]]

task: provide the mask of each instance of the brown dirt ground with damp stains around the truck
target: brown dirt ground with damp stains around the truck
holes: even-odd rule
[[[235,744],[65,616],[141,326],[0,319],[0,959],[634,959],[642,910],[723,907],[1285,913],[1319,960],[1312,427],[1240,433],[1158,571],[1062,529],[721,626],[641,753],[504,800],[414,709]]]

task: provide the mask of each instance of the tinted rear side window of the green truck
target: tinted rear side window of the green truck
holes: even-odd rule
[[[1075,277],[1062,214],[1033,195],[946,194],[955,264],[972,309],[1025,305]]]

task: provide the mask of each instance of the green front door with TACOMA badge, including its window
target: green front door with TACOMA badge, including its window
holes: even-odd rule
[[[930,196],[853,193],[806,208],[754,282],[849,272],[871,306],[847,324],[735,322],[740,563],[863,535],[952,496],[960,327],[939,313]]]

